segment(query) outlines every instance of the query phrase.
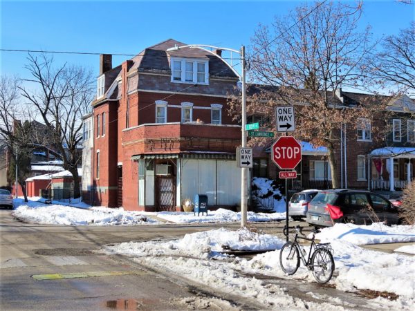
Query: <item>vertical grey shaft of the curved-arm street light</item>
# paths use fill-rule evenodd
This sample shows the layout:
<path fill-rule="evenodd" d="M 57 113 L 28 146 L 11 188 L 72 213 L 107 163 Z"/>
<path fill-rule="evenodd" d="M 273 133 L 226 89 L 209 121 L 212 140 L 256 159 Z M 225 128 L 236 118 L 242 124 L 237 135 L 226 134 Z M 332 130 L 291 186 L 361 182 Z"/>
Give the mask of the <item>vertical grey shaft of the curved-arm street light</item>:
<path fill-rule="evenodd" d="M 245 46 L 241 46 L 242 62 L 242 148 L 246 148 L 246 64 L 245 64 Z M 248 214 L 248 168 L 241 168 L 241 227 L 246 227 L 246 216 Z"/>

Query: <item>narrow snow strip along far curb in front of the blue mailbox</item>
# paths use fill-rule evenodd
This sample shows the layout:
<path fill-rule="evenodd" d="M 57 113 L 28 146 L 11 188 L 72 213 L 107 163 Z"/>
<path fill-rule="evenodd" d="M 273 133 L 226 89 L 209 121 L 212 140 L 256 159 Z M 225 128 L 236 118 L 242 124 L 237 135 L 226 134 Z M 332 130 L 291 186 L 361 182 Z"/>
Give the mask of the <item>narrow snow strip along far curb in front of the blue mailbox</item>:
<path fill-rule="evenodd" d="M 157 217 L 171 221 L 172 223 L 234 223 L 241 221 L 241 212 L 237 213 L 229 209 L 217 209 L 216 211 L 208 211 L 208 215 L 200 214 L 200 216 L 197 216 L 193 212 L 177 213 L 160 211 Z M 285 213 L 266 214 L 248 211 L 247 219 L 249 222 L 284 220 Z"/>

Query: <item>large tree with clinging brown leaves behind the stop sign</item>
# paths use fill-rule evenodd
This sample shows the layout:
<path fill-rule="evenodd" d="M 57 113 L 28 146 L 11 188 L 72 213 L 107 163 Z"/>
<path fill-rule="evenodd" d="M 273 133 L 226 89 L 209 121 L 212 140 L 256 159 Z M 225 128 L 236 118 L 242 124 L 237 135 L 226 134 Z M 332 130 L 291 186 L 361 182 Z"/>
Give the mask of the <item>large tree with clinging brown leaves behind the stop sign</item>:
<path fill-rule="evenodd" d="M 296 104 L 295 135 L 328 149 L 333 187 L 339 187 L 335 152 L 341 125 L 371 118 L 371 103 L 344 109 L 338 96 L 342 87 L 366 83 L 365 55 L 373 44 L 369 28 L 358 32 L 360 10 L 361 3 L 356 8 L 326 1 L 298 6 L 271 26 L 261 26 L 248 54 L 252 81 L 270 86 L 249 99 L 248 113 L 274 115 L 275 106 Z"/>

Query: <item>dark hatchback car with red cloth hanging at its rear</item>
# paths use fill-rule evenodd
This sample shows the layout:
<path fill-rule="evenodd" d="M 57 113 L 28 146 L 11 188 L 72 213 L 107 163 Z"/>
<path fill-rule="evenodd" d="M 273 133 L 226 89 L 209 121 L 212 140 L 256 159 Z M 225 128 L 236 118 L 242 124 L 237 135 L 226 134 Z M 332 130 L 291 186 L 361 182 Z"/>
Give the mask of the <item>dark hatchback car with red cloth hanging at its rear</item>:
<path fill-rule="evenodd" d="M 333 189 L 320 191 L 308 204 L 306 222 L 320 227 L 335 223 L 400 223 L 398 209 L 383 196 L 370 191 Z"/>

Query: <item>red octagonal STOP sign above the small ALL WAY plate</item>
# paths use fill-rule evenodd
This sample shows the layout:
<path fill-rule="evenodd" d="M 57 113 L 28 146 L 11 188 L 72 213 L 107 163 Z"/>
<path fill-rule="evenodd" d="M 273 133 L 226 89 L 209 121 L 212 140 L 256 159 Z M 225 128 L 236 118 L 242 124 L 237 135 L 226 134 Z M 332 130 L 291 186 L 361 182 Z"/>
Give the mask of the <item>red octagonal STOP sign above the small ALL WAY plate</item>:
<path fill-rule="evenodd" d="M 280 169 L 295 169 L 301 161 L 301 144 L 291 136 L 282 136 L 273 144 L 273 161 Z"/>

